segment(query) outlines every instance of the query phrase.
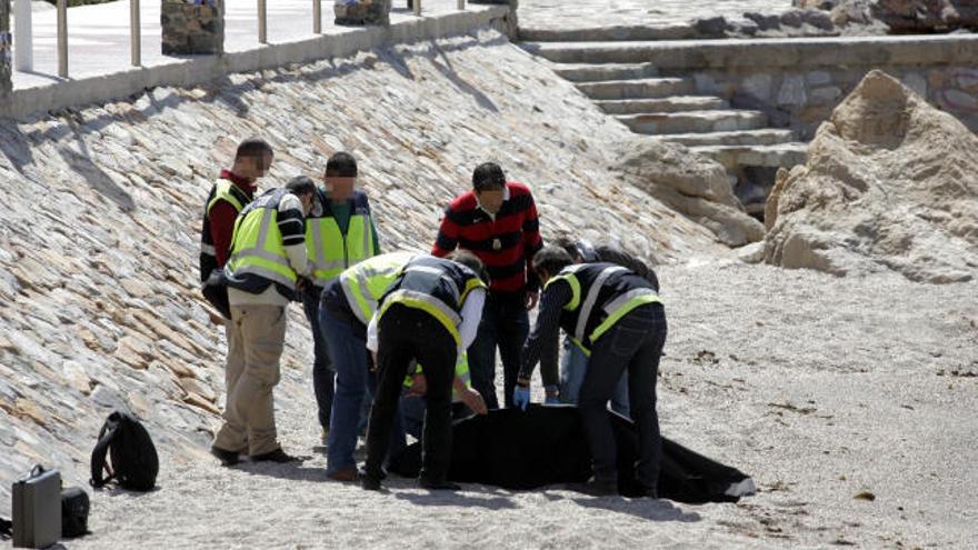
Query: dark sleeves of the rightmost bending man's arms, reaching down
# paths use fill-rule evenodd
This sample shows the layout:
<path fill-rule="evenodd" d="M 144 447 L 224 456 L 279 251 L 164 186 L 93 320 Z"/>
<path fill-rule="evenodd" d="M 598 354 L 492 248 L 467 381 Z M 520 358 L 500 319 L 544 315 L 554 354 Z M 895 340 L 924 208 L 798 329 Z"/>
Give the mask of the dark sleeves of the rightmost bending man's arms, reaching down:
<path fill-rule="evenodd" d="M 523 344 L 523 362 L 520 368 L 519 379 L 529 383 L 530 377 L 537 362 L 542 358 L 543 383 L 551 386 L 557 383 L 557 348 L 560 339 L 560 312 L 563 306 L 570 302 L 573 292 L 570 284 L 565 281 L 553 281 L 543 291 L 543 298 L 540 300 L 540 313 L 537 316 L 537 322 L 530 332 L 527 342 Z"/>

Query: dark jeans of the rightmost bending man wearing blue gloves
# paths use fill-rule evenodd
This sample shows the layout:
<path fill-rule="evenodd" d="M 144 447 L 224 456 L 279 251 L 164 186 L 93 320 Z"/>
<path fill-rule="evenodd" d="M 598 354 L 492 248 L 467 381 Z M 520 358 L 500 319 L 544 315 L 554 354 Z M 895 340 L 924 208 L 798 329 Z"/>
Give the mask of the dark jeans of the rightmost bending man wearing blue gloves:
<path fill-rule="evenodd" d="M 651 496 L 658 488 L 662 457 L 656 413 L 656 374 L 665 343 L 666 313 L 662 306 L 652 303 L 631 310 L 593 343 L 578 403 L 595 478 L 615 480 L 617 452 L 607 407 L 621 374 L 628 372 L 628 399 L 638 433 L 636 478 Z"/>

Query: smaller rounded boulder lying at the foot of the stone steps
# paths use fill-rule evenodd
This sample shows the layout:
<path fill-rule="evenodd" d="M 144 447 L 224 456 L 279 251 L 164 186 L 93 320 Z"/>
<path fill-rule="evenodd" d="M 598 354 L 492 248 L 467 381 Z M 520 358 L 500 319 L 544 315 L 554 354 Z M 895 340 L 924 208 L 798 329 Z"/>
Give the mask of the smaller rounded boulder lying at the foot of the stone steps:
<path fill-rule="evenodd" d="M 722 166 L 683 146 L 637 138 L 622 144 L 619 170 L 628 181 L 697 223 L 723 244 L 764 239 L 764 227 L 734 196 Z"/>

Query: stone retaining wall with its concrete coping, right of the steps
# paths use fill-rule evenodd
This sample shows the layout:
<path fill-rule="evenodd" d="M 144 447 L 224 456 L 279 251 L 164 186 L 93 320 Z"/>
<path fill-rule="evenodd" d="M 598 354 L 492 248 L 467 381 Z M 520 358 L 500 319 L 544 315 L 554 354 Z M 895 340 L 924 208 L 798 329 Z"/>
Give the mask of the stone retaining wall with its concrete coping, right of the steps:
<path fill-rule="evenodd" d="M 662 74 L 691 73 L 697 92 L 765 111 L 772 126 L 792 128 L 809 140 L 862 77 L 880 69 L 978 132 L 978 40 L 849 41 L 849 47 L 838 40 L 800 49 L 790 43 L 738 46 L 725 56 L 727 64 L 705 56 L 692 67 Z"/>

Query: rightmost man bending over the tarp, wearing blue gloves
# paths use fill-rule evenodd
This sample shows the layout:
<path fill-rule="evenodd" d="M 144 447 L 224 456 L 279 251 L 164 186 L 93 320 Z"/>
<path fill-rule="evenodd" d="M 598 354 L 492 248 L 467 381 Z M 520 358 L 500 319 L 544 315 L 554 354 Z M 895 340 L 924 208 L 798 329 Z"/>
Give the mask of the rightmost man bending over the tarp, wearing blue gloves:
<path fill-rule="evenodd" d="M 580 389 L 579 408 L 593 477 L 586 491 L 618 493 L 617 453 L 608 401 L 623 372 L 628 373 L 631 418 L 639 438 L 636 478 L 646 494 L 656 497 L 662 442 L 656 413 L 656 373 L 666 342 L 666 314 L 652 284 L 613 263 L 572 263 L 560 247 L 545 247 L 533 257 L 533 269 L 545 282 L 537 323 L 523 347 L 523 362 L 513 403 L 526 409 L 530 377 L 538 361 L 557 363 L 562 328 L 588 350 L 590 361 Z"/>

